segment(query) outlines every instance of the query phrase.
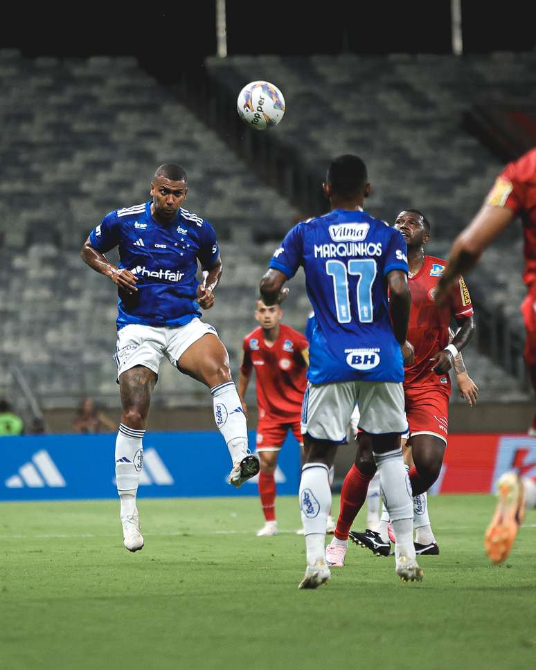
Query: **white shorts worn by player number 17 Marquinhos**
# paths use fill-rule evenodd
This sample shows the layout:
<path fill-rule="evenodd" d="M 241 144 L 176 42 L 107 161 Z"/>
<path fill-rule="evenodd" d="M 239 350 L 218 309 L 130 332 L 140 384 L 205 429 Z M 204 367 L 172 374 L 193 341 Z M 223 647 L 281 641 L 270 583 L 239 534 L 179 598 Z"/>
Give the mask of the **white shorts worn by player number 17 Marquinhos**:
<path fill-rule="evenodd" d="M 343 444 L 356 403 L 362 431 L 382 435 L 409 430 L 402 383 L 339 381 L 307 386 L 301 413 L 302 434 Z"/>

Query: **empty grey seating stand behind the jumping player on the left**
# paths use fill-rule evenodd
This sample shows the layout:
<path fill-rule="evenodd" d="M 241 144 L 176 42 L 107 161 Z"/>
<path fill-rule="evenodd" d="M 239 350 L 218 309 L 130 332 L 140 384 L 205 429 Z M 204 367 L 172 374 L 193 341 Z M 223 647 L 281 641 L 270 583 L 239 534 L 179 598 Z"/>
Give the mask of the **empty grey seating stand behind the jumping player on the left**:
<path fill-rule="evenodd" d="M 20 365 L 44 406 L 75 406 L 84 395 L 118 403 L 116 290 L 78 251 L 107 212 L 147 199 L 154 169 L 174 160 L 188 172 L 188 206 L 213 223 L 222 242 L 224 282 L 207 318 L 236 370 L 273 251 L 259 250 L 251 231 L 274 220 L 287 228 L 292 206 L 134 58 L 29 60 L 1 51 L 0 83 L 4 363 Z M 303 314 L 299 326 L 307 308 Z M 205 395 L 199 383 L 162 366 L 157 401 Z"/>

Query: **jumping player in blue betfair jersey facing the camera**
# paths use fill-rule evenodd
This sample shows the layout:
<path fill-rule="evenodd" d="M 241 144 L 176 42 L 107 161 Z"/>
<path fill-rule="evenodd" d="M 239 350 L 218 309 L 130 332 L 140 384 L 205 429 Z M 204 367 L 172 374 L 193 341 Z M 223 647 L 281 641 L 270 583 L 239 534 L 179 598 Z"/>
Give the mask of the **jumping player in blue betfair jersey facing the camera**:
<path fill-rule="evenodd" d="M 163 356 L 206 384 L 213 396 L 217 428 L 229 448 L 229 483 L 239 487 L 259 471 L 249 453 L 246 417 L 231 379 L 229 355 L 215 329 L 200 320 L 215 302 L 222 275 L 215 232 L 182 207 L 188 194 L 180 165 L 161 165 L 148 202 L 114 210 L 82 246 L 82 259 L 118 287 L 115 360 L 123 413 L 116 439 L 116 480 L 123 544 L 143 547 L 136 492 L 143 467 L 143 435 L 151 393 Z M 116 267 L 105 253 L 118 246 Z M 203 281 L 197 281 L 197 262 Z"/>

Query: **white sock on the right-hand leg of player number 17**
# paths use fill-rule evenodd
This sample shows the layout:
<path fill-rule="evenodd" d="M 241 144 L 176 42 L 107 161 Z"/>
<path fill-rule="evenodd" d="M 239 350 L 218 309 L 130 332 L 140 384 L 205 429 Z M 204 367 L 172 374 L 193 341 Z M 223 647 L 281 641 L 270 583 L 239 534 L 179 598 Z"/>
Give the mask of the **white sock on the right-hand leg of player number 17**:
<path fill-rule="evenodd" d="M 386 453 L 373 452 L 373 456 L 382 484 L 384 505 L 391 518 L 396 536 L 395 555 L 404 554 L 410 560 L 414 560 L 413 497 L 409 476 L 404 468 L 402 449 Z"/>

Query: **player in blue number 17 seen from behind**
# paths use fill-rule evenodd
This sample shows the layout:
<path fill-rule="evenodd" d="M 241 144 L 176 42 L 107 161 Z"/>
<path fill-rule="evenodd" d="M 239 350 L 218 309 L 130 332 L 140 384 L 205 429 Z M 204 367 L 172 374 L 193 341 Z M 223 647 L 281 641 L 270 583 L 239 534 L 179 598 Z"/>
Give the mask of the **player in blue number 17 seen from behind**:
<path fill-rule="evenodd" d="M 406 341 L 411 309 L 406 242 L 397 230 L 363 211 L 370 183 L 357 156 L 334 159 L 323 189 L 331 211 L 294 226 L 260 282 L 262 300 L 274 305 L 287 296 L 283 284 L 303 266 L 316 319 L 302 411 L 300 507 L 307 568 L 300 588 L 316 588 L 330 579 L 325 561 L 328 470 L 337 445 L 346 442 L 356 403 L 361 440 L 370 443 L 395 527 L 396 572 L 404 581 L 420 580 L 413 500 L 400 447 L 400 435 L 408 428 L 404 361 L 413 359 Z"/>

